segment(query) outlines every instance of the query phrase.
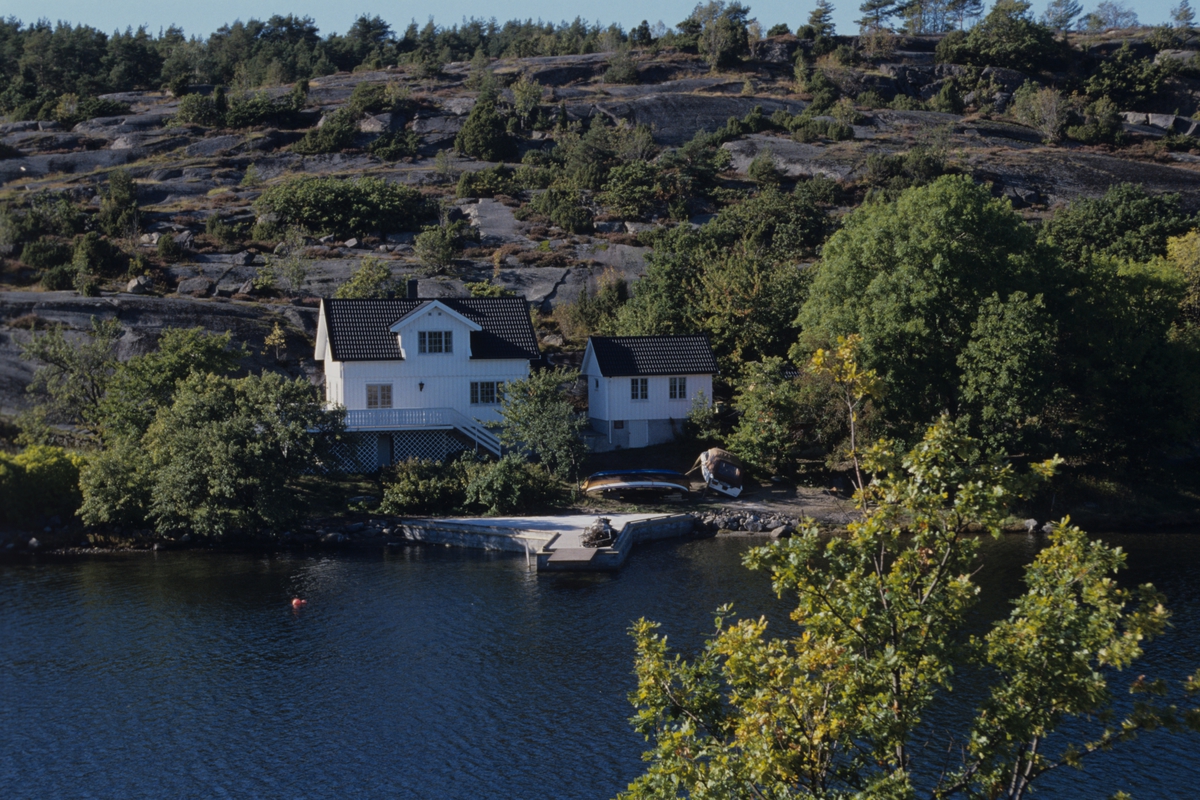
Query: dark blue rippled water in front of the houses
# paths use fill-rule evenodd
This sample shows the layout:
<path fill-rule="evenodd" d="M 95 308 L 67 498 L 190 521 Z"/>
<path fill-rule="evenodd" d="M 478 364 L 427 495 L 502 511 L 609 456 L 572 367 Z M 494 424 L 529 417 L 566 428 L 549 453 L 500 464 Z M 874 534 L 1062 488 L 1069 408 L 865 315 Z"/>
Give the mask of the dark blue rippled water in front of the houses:
<path fill-rule="evenodd" d="M 1200 666 L 1200 535 L 1109 537 L 1175 630 L 1139 668 Z M 638 548 L 551 577 L 446 548 L 160 553 L 0 565 L 0 798 L 606 798 L 637 776 L 630 620 L 694 646 L 712 612 L 785 622 L 742 541 Z M 1000 613 L 1034 542 L 989 542 Z M 308 599 L 294 613 L 288 601 Z M 962 688 L 962 699 L 970 687 Z M 966 703 L 930 721 L 950 724 Z M 1196 796 L 1195 740 L 1105 753 L 1042 796 Z"/>

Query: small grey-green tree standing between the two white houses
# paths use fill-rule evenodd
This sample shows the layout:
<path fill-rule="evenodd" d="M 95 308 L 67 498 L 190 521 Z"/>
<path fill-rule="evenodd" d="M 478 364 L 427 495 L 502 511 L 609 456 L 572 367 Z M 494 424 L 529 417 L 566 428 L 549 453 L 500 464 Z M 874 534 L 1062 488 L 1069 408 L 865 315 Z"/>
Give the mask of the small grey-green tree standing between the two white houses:
<path fill-rule="evenodd" d="M 565 367 L 539 369 L 524 380 L 505 384 L 500 398 L 500 444 L 532 452 L 551 475 L 564 481 L 578 476 L 587 453 L 580 437 L 587 419 L 563 392 L 578 377 Z"/>

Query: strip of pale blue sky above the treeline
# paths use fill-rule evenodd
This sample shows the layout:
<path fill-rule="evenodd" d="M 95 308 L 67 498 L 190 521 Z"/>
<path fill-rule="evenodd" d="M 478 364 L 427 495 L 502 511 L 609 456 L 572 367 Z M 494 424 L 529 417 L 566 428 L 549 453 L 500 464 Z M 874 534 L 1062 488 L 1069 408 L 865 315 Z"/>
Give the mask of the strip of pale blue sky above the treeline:
<path fill-rule="evenodd" d="M 743 0 L 745 1 L 745 0 Z M 858 16 L 860 0 L 842 2 L 833 0 L 838 32 L 853 32 L 853 19 Z M 1049 0 L 1034 0 L 1037 13 L 1045 8 Z M 1082 0 L 1085 11 L 1096 7 L 1098 0 Z M 1144 24 L 1164 23 L 1170 17 L 1170 8 L 1178 0 L 1127 0 L 1126 5 L 1136 10 Z M 650 24 L 662 20 L 673 25 L 685 18 L 695 7 L 695 0 L 667 0 L 665 2 L 637 2 L 635 0 L 610 0 L 608 2 L 563 2 L 562 0 L 440 0 L 437 4 L 415 2 L 322 2 L 319 0 L 206 0 L 204 2 L 145 2 L 145 0 L 40 0 L 36 4 L 6 4 L 0 8 L 5 17 L 17 17 L 24 22 L 34 22 L 40 17 L 52 20 L 85 23 L 106 31 L 146 25 L 151 31 L 174 23 L 188 34 L 206 36 L 224 23 L 235 19 L 265 19 L 271 14 L 294 13 L 308 16 L 317 20 L 322 34 L 346 32 L 360 13 L 379 14 L 394 29 L 403 30 L 410 19 L 425 24 L 433 16 L 439 25 L 451 25 L 463 17 L 496 17 L 497 19 L 533 18 L 559 22 L 583 17 L 589 22 L 605 24 L 620 23 L 626 30 L 642 19 Z M 764 26 L 785 22 L 793 29 L 808 18 L 815 5 L 814 0 L 785 2 L 784 0 L 758 1 L 749 4 L 751 16 Z M 990 4 L 989 4 L 990 5 Z M 1200 2 L 1193 2 L 1200 11 Z"/>

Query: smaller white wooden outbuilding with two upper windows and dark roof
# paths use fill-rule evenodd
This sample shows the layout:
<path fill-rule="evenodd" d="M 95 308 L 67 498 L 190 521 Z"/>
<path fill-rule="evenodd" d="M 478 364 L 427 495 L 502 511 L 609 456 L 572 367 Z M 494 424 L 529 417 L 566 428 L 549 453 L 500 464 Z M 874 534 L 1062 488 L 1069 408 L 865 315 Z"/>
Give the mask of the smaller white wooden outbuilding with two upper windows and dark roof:
<path fill-rule="evenodd" d="M 707 336 L 593 336 L 581 369 L 598 449 L 670 441 L 703 392 L 713 402 L 716 359 Z"/>

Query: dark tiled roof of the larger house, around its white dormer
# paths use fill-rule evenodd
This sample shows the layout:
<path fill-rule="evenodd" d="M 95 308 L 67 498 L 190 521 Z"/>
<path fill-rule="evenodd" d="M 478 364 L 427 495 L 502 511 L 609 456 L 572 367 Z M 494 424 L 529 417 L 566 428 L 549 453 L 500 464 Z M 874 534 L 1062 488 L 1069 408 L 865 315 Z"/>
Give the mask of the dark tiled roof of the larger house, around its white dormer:
<path fill-rule="evenodd" d="M 336 361 L 397 361 L 390 329 L 401 317 L 437 300 L 482 326 L 470 333 L 472 359 L 538 359 L 538 337 L 524 297 L 421 297 L 419 300 L 322 300 L 329 347 Z"/>

